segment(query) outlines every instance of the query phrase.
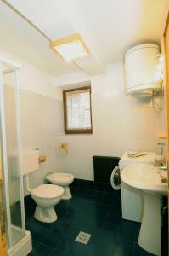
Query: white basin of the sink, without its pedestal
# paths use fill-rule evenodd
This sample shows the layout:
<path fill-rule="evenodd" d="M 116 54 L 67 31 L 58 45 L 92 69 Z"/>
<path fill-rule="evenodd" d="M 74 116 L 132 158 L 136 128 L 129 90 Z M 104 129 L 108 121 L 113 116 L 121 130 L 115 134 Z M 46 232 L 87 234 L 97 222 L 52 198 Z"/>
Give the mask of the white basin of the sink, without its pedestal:
<path fill-rule="evenodd" d="M 128 165 L 121 171 L 121 180 L 127 185 L 147 193 L 167 195 L 167 184 L 161 182 L 167 172 L 148 164 Z"/>

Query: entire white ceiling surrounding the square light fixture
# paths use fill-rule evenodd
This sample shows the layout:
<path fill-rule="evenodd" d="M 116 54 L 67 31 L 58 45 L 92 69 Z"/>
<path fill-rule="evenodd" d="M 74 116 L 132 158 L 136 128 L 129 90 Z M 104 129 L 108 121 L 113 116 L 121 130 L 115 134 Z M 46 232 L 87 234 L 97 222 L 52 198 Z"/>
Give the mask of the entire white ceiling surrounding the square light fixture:
<path fill-rule="evenodd" d="M 12 5 L 46 37 L 3 2 Z M 125 51 L 135 44 L 160 43 L 167 0 L 3 2 L 0 2 L 0 48 L 20 56 L 46 73 L 61 75 L 76 72 L 76 65 L 83 65 L 84 70 L 91 67 L 92 70 L 92 67 L 98 68 L 98 63 L 99 67 L 105 67 L 112 62 L 121 61 Z M 81 33 L 91 55 L 89 61 L 80 60 L 75 65 L 55 55 L 49 49 L 49 40 L 76 32 Z"/>

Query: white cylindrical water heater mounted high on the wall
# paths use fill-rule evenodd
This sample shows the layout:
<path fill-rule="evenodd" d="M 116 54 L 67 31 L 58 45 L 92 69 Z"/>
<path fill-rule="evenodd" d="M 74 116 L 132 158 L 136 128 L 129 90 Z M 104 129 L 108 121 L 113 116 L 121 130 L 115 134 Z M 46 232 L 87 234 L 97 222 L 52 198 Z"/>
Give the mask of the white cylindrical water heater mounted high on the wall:
<path fill-rule="evenodd" d="M 161 90 L 157 78 L 158 44 L 139 44 L 129 49 L 124 56 L 124 77 L 127 95 L 152 96 Z"/>

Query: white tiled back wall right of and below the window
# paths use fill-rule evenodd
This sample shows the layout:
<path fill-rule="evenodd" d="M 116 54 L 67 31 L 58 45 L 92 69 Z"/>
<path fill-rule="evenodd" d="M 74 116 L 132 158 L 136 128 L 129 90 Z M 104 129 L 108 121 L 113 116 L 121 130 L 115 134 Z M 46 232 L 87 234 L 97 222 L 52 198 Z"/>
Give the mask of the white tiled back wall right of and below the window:
<path fill-rule="evenodd" d="M 163 130 L 164 125 L 163 112 L 155 111 L 149 99 L 125 96 L 121 62 L 108 67 L 104 75 L 91 77 L 91 85 L 93 134 L 63 132 L 56 137 L 58 147 L 61 142 L 69 143 L 68 155 L 58 151 L 56 170 L 89 180 L 93 180 L 93 155 L 121 156 L 125 150 L 157 150 L 155 131 Z"/>

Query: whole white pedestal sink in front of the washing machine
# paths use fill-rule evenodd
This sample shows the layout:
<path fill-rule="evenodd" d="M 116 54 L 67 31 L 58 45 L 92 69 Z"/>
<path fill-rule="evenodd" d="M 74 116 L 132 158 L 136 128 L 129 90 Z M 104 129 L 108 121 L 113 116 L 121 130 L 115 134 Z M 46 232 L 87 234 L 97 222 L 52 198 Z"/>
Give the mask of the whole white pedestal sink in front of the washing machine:
<path fill-rule="evenodd" d="M 167 184 L 161 183 L 166 171 L 147 164 L 128 165 L 121 171 L 121 181 L 143 195 L 143 218 L 138 244 L 144 250 L 161 255 L 161 195 L 167 195 Z"/>

